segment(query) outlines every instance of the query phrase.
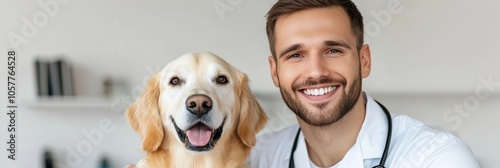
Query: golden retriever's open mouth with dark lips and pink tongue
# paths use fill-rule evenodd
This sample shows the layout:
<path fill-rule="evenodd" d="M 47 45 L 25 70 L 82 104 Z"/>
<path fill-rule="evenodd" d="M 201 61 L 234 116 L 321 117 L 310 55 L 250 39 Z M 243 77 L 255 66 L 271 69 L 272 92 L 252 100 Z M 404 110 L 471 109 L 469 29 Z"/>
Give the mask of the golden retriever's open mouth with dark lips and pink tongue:
<path fill-rule="evenodd" d="M 173 117 L 170 119 L 174 123 L 175 131 L 181 142 L 188 150 L 197 152 L 210 151 L 214 148 L 222 135 L 224 122 L 226 122 L 226 118 L 224 118 L 221 126 L 217 129 L 212 129 L 202 122 L 198 122 L 183 131 L 177 126 Z"/>

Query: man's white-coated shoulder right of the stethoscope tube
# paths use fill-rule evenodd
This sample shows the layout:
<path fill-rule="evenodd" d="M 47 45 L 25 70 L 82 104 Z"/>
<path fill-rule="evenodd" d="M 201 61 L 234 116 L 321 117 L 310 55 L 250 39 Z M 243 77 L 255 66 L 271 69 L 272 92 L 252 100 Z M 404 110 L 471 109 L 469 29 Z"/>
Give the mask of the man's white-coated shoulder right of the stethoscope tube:
<path fill-rule="evenodd" d="M 397 162 L 413 167 L 449 166 L 450 162 L 457 163 L 459 167 L 478 167 L 469 146 L 454 134 L 429 127 L 405 115 L 393 117 L 393 123 L 395 136 L 391 143 L 404 149 L 397 154 L 403 160 Z"/>

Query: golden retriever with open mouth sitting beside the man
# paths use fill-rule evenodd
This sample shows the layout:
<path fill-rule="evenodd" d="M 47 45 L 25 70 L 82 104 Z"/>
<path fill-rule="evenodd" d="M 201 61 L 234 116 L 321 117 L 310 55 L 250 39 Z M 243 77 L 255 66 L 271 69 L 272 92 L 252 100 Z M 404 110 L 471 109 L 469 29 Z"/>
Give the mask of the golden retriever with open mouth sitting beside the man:
<path fill-rule="evenodd" d="M 212 53 L 170 62 L 126 117 L 146 152 L 140 168 L 246 167 L 267 120 L 247 76 Z"/>

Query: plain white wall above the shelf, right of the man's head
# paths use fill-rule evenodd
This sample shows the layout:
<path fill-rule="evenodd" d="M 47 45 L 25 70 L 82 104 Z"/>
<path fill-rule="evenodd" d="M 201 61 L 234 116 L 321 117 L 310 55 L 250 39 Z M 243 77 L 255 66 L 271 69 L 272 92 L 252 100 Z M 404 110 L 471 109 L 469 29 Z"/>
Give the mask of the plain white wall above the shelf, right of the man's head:
<path fill-rule="evenodd" d="M 377 20 L 374 13 L 392 9 L 387 7 L 392 1 L 398 2 L 359 5 L 373 53 L 368 90 L 463 93 L 472 90 L 480 76 L 500 78 L 495 47 L 500 43 L 500 12 L 494 7 L 499 2 L 399 0 L 391 19 Z"/>

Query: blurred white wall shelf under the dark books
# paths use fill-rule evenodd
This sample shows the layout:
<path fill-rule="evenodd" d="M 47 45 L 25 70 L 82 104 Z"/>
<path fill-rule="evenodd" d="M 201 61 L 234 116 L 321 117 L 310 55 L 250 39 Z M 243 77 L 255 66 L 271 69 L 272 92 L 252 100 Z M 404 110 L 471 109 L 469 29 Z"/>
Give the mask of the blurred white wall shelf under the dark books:
<path fill-rule="evenodd" d="M 111 108 L 113 98 L 76 96 L 76 97 L 38 97 L 26 101 L 30 108 Z"/>

